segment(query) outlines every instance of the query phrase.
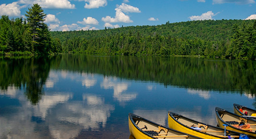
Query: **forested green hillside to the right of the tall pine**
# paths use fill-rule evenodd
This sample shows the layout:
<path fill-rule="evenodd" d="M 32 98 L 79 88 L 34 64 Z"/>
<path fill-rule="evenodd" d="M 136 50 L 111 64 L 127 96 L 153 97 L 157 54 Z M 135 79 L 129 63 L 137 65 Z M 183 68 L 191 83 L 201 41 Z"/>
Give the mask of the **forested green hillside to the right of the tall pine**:
<path fill-rule="evenodd" d="M 254 20 L 198 20 L 159 26 L 54 31 L 63 52 L 256 59 Z"/>

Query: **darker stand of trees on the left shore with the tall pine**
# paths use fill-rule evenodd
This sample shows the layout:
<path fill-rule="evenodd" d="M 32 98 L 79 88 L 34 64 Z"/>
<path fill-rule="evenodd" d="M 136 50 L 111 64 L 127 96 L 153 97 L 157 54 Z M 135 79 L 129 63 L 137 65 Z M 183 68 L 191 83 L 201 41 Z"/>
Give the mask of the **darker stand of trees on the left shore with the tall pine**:
<path fill-rule="evenodd" d="M 0 55 L 31 55 L 57 53 L 56 40 L 52 39 L 43 22 L 46 14 L 34 4 L 27 11 L 27 20 L 8 16 L 0 18 Z"/>

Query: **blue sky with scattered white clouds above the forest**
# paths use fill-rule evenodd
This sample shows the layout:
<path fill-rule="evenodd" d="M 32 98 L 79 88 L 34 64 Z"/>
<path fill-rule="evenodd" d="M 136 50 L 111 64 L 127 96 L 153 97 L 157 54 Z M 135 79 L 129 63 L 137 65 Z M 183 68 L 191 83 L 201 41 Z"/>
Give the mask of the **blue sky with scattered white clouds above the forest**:
<path fill-rule="evenodd" d="M 256 19 L 256 0 L 0 0 L 0 16 L 25 19 L 35 3 L 47 14 L 52 31 Z"/>

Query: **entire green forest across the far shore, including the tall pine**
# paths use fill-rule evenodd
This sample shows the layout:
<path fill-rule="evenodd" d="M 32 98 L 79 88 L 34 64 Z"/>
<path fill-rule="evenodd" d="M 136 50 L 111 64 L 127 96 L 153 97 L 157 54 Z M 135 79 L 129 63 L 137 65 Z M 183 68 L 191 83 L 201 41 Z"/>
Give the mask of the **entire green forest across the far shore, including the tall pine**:
<path fill-rule="evenodd" d="M 89 53 L 256 59 L 256 20 L 197 20 L 104 30 L 50 31 L 38 4 L 0 19 L 0 55 Z M 40 18 L 36 18 L 39 15 Z"/>

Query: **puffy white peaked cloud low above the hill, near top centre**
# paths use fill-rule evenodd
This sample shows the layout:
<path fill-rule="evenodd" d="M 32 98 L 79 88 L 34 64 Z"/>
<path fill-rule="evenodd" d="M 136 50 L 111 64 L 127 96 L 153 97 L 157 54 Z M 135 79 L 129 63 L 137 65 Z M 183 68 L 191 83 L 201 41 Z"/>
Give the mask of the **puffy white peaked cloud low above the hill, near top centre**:
<path fill-rule="evenodd" d="M 110 16 L 106 16 L 105 18 L 103 17 L 101 20 L 104 22 L 125 22 L 125 23 L 131 23 L 133 22 L 130 20 L 130 17 L 128 15 L 125 15 L 120 9 L 116 8 L 116 16 L 115 18 L 111 18 Z"/>

